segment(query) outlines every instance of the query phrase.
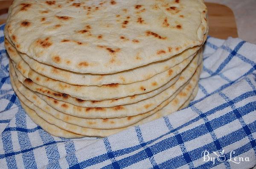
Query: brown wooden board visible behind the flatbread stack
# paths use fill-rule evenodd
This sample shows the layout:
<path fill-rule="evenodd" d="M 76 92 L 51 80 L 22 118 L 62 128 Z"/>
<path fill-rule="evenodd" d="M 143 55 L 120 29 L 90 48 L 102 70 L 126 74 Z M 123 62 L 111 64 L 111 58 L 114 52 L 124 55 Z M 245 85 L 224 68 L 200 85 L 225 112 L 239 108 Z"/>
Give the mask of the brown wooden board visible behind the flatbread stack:
<path fill-rule="evenodd" d="M 0 15 L 8 12 L 8 6 L 12 0 L 0 0 Z M 220 39 L 238 37 L 236 20 L 233 11 L 227 6 L 206 3 L 208 8 L 209 35 Z M 6 18 L 0 19 L 0 24 L 5 23 Z"/>

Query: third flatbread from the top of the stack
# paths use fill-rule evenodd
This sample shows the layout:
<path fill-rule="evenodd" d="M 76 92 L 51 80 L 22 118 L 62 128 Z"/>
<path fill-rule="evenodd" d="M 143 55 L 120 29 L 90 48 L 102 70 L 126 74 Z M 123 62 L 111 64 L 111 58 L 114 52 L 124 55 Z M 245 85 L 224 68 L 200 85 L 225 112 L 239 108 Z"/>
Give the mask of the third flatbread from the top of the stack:
<path fill-rule="evenodd" d="M 192 59 L 192 61 L 191 61 Z M 191 61 L 191 62 L 190 62 Z M 105 99 L 118 99 L 127 96 L 133 96 L 136 94 L 148 93 L 155 90 L 166 83 L 174 84 L 179 78 L 179 73 L 186 68 L 187 65 L 196 68 L 198 66 L 198 54 L 194 58 L 185 59 L 178 65 L 170 68 L 169 70 L 159 73 L 152 78 L 135 82 L 127 85 L 111 84 L 102 86 L 77 86 L 70 85 L 61 81 L 53 80 L 36 73 L 27 65 L 26 68 L 22 65 L 16 65 L 17 70 L 28 79 L 38 85 L 42 85 L 54 91 L 68 94 L 72 97 L 76 97 L 82 100 L 105 100 Z M 177 76 L 178 75 L 178 76 Z"/>

